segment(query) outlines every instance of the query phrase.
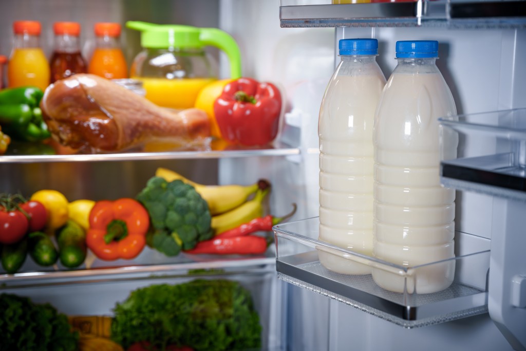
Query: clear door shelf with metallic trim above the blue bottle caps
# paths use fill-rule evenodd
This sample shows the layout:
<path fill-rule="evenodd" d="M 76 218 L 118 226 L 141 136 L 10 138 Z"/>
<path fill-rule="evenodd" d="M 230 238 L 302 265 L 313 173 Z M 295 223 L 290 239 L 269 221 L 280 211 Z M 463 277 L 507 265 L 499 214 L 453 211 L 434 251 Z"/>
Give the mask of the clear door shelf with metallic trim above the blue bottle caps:
<path fill-rule="evenodd" d="M 526 27 L 526 2 L 523 0 L 419 0 L 360 4 L 281 0 L 279 10 L 281 27 Z"/>

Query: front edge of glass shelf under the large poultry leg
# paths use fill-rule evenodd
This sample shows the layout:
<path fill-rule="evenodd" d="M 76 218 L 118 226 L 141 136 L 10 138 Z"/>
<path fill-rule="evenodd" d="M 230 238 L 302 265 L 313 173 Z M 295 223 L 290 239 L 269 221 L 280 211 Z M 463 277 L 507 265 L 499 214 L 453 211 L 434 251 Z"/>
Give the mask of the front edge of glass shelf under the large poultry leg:
<path fill-rule="evenodd" d="M 75 154 L 75 155 L 2 155 L 0 163 L 48 163 L 48 162 L 100 162 L 100 161 L 140 161 L 165 159 L 205 159 L 235 158 L 257 156 L 298 155 L 299 149 L 284 143 L 274 143 L 263 147 L 230 146 L 228 149 L 197 149 L 192 151 L 163 152 L 123 152 L 113 154 Z"/>

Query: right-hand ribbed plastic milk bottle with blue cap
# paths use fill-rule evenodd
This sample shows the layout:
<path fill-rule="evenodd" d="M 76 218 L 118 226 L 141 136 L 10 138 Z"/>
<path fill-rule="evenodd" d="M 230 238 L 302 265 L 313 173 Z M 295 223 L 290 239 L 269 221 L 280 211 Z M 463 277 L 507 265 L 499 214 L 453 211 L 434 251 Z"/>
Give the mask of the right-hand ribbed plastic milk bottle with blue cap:
<path fill-rule="evenodd" d="M 375 117 L 375 257 L 411 268 L 454 257 L 454 189 L 440 185 L 439 117 L 456 118 L 440 73 L 437 41 L 396 43 L 398 65 Z M 443 152 L 452 158 L 457 142 Z M 380 268 L 372 277 L 393 292 L 427 294 L 447 288 L 454 260 L 408 270 Z"/>

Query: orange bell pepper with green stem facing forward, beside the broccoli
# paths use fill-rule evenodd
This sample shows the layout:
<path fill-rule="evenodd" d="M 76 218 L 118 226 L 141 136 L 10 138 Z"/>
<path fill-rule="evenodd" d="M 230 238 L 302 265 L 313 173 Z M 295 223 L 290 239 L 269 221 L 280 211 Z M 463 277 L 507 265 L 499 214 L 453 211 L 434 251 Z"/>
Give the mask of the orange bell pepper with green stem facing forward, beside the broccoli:
<path fill-rule="evenodd" d="M 148 212 L 138 201 L 102 200 L 89 213 L 86 244 L 100 259 L 135 258 L 146 245 L 149 225 Z"/>

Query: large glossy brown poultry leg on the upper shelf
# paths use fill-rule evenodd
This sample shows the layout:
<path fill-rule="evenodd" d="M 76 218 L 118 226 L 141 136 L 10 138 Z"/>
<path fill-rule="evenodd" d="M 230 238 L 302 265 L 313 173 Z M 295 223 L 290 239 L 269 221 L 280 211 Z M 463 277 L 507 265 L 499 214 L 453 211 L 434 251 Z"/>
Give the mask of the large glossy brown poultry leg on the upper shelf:
<path fill-rule="evenodd" d="M 204 111 L 159 107 L 90 74 L 76 74 L 50 85 L 41 108 L 53 138 L 83 152 L 124 151 L 158 139 L 195 144 L 210 136 Z"/>

